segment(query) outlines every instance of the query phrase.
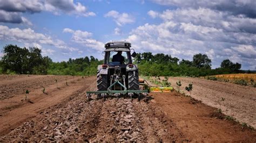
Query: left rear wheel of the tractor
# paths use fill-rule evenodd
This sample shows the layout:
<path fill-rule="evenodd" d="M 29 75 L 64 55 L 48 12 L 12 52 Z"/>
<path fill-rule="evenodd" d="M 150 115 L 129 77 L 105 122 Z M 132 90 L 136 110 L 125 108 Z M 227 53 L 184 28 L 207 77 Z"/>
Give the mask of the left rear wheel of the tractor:
<path fill-rule="evenodd" d="M 98 91 L 107 90 L 107 75 L 100 75 L 99 70 L 97 71 L 97 88 Z"/>

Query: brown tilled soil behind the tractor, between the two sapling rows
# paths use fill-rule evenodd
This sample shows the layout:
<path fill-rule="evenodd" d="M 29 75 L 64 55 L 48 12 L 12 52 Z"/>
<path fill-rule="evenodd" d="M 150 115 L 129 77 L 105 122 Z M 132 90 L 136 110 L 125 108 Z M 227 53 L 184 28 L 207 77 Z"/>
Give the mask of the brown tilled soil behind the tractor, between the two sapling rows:
<path fill-rule="evenodd" d="M 151 93 L 151 101 L 88 101 L 86 91 L 96 89 L 96 77 L 59 85 L 46 86 L 47 95 L 31 90 L 32 103 L 21 102 L 21 95 L 2 100 L 0 141 L 256 141 L 255 131 L 176 92 Z M 12 102 L 16 106 L 7 108 Z"/>

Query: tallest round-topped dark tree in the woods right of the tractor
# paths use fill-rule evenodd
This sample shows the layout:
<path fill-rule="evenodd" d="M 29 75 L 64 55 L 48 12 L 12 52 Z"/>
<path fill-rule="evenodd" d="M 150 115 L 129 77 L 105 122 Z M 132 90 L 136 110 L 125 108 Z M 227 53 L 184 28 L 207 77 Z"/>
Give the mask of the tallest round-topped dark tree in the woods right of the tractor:
<path fill-rule="evenodd" d="M 193 56 L 193 65 L 197 68 L 210 69 L 212 66 L 211 62 L 211 59 L 206 54 L 200 53 Z"/>

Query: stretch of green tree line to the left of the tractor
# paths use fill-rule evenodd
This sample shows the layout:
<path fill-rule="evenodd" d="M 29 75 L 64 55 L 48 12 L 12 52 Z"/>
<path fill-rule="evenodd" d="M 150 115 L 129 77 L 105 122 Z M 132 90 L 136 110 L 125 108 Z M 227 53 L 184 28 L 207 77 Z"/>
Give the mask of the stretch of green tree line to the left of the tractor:
<path fill-rule="evenodd" d="M 0 74 L 95 75 L 97 66 L 103 63 L 93 56 L 53 62 L 48 56 L 42 56 L 37 47 L 6 45 L 3 53 Z"/>

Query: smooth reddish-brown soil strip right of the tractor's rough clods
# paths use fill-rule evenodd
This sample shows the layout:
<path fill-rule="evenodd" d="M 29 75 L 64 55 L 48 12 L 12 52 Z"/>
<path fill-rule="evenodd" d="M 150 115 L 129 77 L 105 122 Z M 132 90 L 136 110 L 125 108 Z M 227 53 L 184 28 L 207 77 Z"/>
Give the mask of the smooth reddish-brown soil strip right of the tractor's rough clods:
<path fill-rule="evenodd" d="M 255 131 L 225 119 L 217 109 L 190 97 L 180 96 L 176 92 L 154 93 L 152 96 L 167 117 L 185 135 L 187 141 L 254 142 L 256 140 Z"/>

